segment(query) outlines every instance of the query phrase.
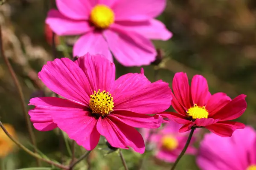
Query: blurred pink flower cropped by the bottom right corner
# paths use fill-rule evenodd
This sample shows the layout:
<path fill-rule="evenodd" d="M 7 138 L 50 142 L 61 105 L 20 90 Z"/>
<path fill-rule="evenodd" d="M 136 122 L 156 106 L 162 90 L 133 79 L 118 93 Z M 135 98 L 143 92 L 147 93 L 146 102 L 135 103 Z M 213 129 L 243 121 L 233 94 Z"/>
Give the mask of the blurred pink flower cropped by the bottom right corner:
<path fill-rule="evenodd" d="M 256 170 L 256 131 L 247 126 L 230 138 L 206 134 L 196 162 L 201 170 Z"/>

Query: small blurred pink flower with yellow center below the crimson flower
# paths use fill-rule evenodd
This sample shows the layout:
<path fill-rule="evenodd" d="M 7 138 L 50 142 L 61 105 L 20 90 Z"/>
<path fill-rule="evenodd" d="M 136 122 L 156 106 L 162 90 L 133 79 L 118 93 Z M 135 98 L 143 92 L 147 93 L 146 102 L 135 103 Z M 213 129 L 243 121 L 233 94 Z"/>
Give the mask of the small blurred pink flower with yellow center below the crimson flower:
<path fill-rule="evenodd" d="M 175 162 L 189 136 L 188 132 L 179 133 L 181 126 L 174 121 L 170 121 L 165 123 L 162 129 L 154 131 L 149 139 L 149 144 L 154 148 L 154 154 L 157 159 L 166 162 Z M 141 129 L 141 134 L 145 140 L 148 139 L 149 130 L 146 128 Z M 191 143 L 186 150 L 187 154 L 196 153 L 196 149 L 192 146 L 193 142 L 195 142 L 195 137 L 191 139 Z"/>

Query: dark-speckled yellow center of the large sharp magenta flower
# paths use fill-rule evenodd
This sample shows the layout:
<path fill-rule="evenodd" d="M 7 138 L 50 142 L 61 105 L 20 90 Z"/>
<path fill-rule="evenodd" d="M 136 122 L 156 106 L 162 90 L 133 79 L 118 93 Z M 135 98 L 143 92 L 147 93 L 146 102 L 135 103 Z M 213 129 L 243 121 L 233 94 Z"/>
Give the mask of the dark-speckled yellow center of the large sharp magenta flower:
<path fill-rule="evenodd" d="M 105 116 L 113 111 L 114 102 L 113 97 L 106 91 L 98 92 L 94 91 L 94 94 L 90 95 L 89 107 L 93 113 L 101 114 Z"/>

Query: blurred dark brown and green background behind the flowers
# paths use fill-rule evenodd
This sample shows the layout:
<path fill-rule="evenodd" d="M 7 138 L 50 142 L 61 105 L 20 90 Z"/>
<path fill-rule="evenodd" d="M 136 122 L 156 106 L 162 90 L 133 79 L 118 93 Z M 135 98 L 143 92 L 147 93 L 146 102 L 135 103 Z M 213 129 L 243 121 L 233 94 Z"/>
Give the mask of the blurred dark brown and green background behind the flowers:
<path fill-rule="evenodd" d="M 3 26 L 3 47 L 20 80 L 26 102 L 32 96 L 50 91 L 37 77 L 38 71 L 52 60 L 52 47 L 47 43 L 44 20 L 50 6 L 49 0 L 9 0 L 0 6 L 0 24 Z M 211 93 L 224 92 L 231 98 L 247 95 L 248 108 L 239 121 L 256 126 L 256 1 L 255 0 L 168 0 L 166 10 L 158 17 L 173 32 L 169 41 L 154 41 L 164 51 L 159 65 L 158 79 L 169 82 L 176 72 L 186 72 L 191 79 L 195 74 L 207 78 Z M 71 54 L 73 38 L 61 38 L 58 57 Z M 64 50 L 64 51 L 63 51 Z M 140 68 L 125 68 L 116 62 L 117 77 Z M 145 66 L 145 75 L 154 81 L 154 66 Z M 28 107 L 29 108 L 29 107 Z M 15 127 L 18 139 L 32 149 L 26 130 L 17 90 L 9 71 L 0 58 L 0 117 L 1 121 Z M 58 130 L 35 131 L 38 148 L 52 159 L 70 161 L 64 148 L 60 152 Z M 69 141 L 70 142 L 70 141 Z M 76 146 L 76 156 L 85 151 Z M 81 170 L 122 170 L 117 153 L 104 156 L 108 151 L 102 140 L 99 147 L 78 166 Z M 136 170 L 140 154 L 124 150 L 129 169 Z M 193 156 L 184 156 L 177 170 L 197 170 Z M 35 167 L 35 159 L 22 150 L 4 158 L 8 170 Z M 169 170 L 171 164 L 148 154 L 144 170 Z M 49 166 L 44 164 L 44 166 Z M 78 169 L 79 169 L 78 168 Z"/>

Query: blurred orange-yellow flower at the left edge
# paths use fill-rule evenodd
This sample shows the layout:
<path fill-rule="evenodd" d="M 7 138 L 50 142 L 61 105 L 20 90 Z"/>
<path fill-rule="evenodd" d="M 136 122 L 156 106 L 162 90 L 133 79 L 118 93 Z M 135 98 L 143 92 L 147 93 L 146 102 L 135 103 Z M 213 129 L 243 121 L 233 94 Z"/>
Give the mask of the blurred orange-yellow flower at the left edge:
<path fill-rule="evenodd" d="M 15 129 L 10 124 L 3 124 L 6 130 L 15 137 Z M 4 133 L 3 129 L 0 128 L 0 158 L 7 156 L 14 150 L 15 144 L 12 142 L 11 139 Z"/>

